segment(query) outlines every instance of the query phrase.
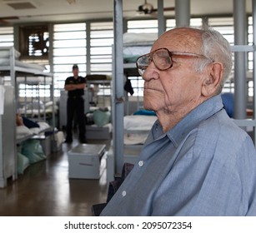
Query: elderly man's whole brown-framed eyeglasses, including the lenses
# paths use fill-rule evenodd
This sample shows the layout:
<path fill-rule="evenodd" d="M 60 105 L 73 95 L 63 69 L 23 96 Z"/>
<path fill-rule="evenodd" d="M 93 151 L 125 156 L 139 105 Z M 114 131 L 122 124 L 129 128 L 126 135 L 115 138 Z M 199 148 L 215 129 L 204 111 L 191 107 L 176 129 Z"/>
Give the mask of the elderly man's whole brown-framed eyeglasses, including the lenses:
<path fill-rule="evenodd" d="M 208 59 L 213 62 L 212 58 L 205 57 L 197 53 L 168 51 L 166 47 L 163 47 L 138 57 L 136 61 L 138 73 L 142 76 L 148 68 L 150 62 L 153 62 L 159 71 L 166 71 L 173 67 L 173 57 L 198 57 Z"/>

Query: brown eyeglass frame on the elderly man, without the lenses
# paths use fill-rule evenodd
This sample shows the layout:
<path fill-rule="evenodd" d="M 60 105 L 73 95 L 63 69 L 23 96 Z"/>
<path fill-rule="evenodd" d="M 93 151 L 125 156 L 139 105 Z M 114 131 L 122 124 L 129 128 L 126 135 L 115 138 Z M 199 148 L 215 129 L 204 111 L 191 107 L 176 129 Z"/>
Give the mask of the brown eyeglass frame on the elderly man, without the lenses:
<path fill-rule="evenodd" d="M 170 58 L 170 64 L 166 68 L 159 68 L 158 65 L 156 64 L 155 60 L 154 60 L 154 55 L 156 54 L 156 52 L 159 52 L 160 50 L 165 50 L 166 52 L 168 52 L 168 55 L 169 55 L 169 58 Z M 154 50 L 153 52 L 149 52 L 149 53 L 144 54 L 144 55 L 137 58 L 136 66 L 137 66 L 137 69 L 138 69 L 138 73 L 141 76 L 143 76 L 143 73 L 146 71 L 146 69 L 148 68 L 148 66 L 150 65 L 151 62 L 153 62 L 153 64 L 155 65 L 155 67 L 158 68 L 159 71 L 166 71 L 169 68 L 173 67 L 173 56 L 174 57 L 198 57 L 198 58 L 208 59 L 210 62 L 214 62 L 214 60 L 212 58 L 206 57 L 202 54 L 193 53 L 193 52 L 169 51 L 168 48 L 161 47 L 161 48 L 158 48 L 158 49 Z M 143 67 L 140 67 L 140 64 L 139 64 L 138 61 L 140 59 L 142 59 L 143 57 L 148 57 L 148 65 L 144 65 Z"/>

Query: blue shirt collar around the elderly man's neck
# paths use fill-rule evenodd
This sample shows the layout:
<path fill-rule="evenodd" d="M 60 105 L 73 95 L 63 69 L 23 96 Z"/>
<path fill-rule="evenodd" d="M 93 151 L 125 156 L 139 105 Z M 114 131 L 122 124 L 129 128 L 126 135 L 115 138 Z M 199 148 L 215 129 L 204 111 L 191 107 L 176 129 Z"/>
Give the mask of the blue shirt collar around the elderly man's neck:
<path fill-rule="evenodd" d="M 198 124 L 209 117 L 213 116 L 216 112 L 223 108 L 223 102 L 220 95 L 212 97 L 207 101 L 194 108 L 192 112 L 189 112 L 186 117 L 178 122 L 173 129 L 169 130 L 166 135 L 174 146 L 178 146 L 183 138 L 188 135 L 189 131 L 198 126 Z"/>

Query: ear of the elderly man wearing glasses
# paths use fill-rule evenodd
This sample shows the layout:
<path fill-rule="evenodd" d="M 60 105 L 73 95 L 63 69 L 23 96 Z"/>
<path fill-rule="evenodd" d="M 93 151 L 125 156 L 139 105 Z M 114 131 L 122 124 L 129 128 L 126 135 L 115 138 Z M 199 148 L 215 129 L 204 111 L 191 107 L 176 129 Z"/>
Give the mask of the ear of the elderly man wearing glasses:
<path fill-rule="evenodd" d="M 202 94 L 205 97 L 212 96 L 218 91 L 220 82 L 223 78 L 223 65 L 213 62 L 208 67 L 208 76 L 203 80 Z"/>

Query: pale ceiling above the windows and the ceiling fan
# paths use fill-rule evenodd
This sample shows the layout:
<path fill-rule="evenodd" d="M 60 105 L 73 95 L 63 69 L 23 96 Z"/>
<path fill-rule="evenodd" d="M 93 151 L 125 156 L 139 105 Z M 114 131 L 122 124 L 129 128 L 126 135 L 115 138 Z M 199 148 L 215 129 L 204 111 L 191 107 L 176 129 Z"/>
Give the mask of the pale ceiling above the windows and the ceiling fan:
<path fill-rule="evenodd" d="M 73 3 L 68 3 L 68 1 L 73 1 Z M 251 12 L 252 0 L 245 1 L 246 11 Z M 113 3 L 114 0 L 0 0 L 0 19 L 7 17 L 0 24 L 111 18 L 113 17 Z M 144 0 L 123 0 L 123 17 L 142 17 L 137 10 L 138 6 L 143 3 Z M 157 8 L 158 0 L 148 0 L 148 3 Z M 163 7 L 174 7 L 174 4 L 175 0 L 163 0 Z M 18 7 L 18 9 L 11 6 Z M 30 8 L 20 8 L 23 6 Z M 192 16 L 233 12 L 233 0 L 190 0 L 190 6 Z M 172 17 L 174 13 L 174 11 L 165 11 L 164 15 Z"/>

